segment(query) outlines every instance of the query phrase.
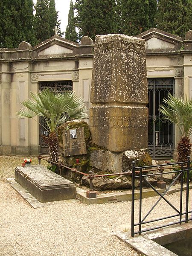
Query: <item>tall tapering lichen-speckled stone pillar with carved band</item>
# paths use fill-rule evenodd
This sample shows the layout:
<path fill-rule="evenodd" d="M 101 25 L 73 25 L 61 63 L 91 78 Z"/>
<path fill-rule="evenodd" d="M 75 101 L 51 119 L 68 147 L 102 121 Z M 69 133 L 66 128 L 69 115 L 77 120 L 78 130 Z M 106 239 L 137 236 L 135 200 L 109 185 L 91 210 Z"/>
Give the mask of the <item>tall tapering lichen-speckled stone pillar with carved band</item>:
<path fill-rule="evenodd" d="M 115 154 L 118 163 L 112 166 L 116 164 L 116 172 L 121 172 L 126 151 L 148 154 L 145 40 L 117 34 L 96 36 L 90 102 L 90 131 L 92 143 L 100 148 L 96 153 L 100 166 L 107 158 L 114 162 Z"/>

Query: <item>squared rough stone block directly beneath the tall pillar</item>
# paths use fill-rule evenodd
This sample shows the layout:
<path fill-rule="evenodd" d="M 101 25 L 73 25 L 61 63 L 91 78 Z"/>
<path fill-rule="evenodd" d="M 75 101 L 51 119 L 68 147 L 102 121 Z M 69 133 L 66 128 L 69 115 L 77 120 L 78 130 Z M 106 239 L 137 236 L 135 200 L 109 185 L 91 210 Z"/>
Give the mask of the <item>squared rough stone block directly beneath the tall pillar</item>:
<path fill-rule="evenodd" d="M 121 172 L 122 155 L 109 150 L 93 150 L 90 153 L 90 166 L 103 172 Z"/>

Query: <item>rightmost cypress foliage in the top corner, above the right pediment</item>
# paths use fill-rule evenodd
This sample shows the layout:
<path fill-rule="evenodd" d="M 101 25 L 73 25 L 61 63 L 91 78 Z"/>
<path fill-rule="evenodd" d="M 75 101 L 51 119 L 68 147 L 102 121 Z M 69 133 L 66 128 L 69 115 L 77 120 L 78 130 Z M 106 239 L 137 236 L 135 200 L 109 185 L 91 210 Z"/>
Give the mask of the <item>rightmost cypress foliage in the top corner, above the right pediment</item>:
<path fill-rule="evenodd" d="M 157 28 L 183 36 L 192 26 L 191 0 L 160 0 L 157 14 Z"/>

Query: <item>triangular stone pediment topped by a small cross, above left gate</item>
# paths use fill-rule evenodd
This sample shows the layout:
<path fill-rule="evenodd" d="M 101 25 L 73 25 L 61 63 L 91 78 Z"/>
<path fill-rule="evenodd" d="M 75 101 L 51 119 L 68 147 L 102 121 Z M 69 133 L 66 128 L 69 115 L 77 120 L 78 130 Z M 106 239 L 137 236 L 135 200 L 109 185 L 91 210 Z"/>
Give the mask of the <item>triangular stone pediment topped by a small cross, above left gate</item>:
<path fill-rule="evenodd" d="M 33 50 L 38 52 L 39 57 L 75 55 L 78 46 L 79 44 L 56 35 L 33 47 Z"/>

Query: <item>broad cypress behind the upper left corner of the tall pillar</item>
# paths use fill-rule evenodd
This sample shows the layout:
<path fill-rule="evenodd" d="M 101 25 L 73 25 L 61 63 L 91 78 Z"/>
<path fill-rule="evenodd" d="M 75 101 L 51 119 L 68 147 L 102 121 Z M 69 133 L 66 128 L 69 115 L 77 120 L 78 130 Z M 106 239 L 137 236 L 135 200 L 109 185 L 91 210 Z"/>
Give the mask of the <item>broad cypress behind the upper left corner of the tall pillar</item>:
<path fill-rule="evenodd" d="M 96 35 L 114 32 L 114 0 L 84 0 L 81 30 L 94 40 Z"/>

